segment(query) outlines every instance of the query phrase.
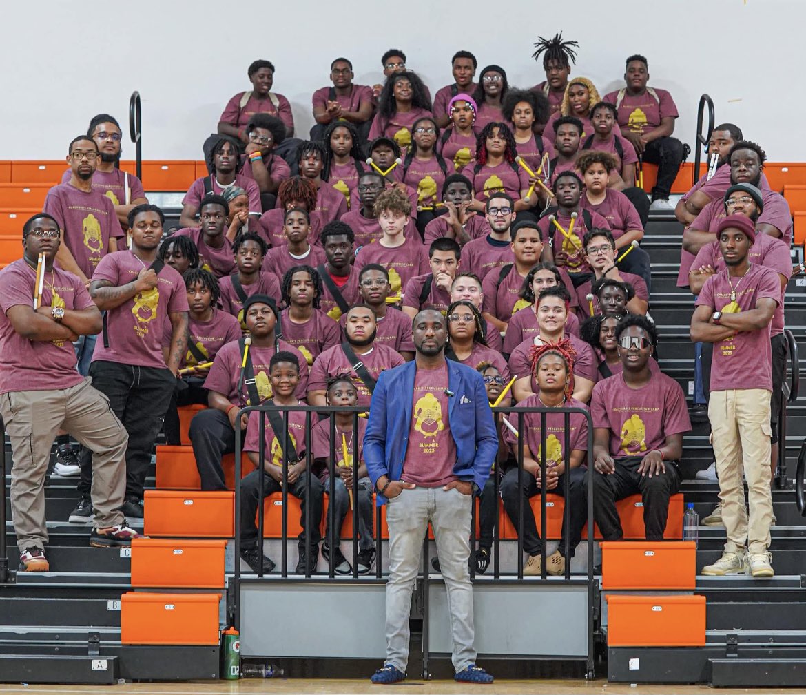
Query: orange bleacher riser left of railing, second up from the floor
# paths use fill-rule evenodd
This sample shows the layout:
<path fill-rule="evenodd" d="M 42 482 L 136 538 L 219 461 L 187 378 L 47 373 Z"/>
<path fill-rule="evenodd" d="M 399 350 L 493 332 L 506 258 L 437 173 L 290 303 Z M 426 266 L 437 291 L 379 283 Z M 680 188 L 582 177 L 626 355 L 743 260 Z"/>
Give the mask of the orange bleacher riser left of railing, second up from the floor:
<path fill-rule="evenodd" d="M 138 538 L 131 542 L 131 585 L 223 589 L 223 540 Z"/>

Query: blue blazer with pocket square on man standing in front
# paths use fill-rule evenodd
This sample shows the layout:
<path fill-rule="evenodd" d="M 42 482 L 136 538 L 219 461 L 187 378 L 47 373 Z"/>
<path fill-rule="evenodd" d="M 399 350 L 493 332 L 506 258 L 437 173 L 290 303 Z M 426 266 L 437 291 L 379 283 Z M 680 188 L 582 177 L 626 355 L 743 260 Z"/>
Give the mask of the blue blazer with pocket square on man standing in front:
<path fill-rule="evenodd" d="M 474 490 L 480 493 L 498 452 L 498 434 L 487 390 L 475 369 L 454 360 L 447 360 L 447 365 L 451 391 L 448 424 L 457 454 L 453 472 L 459 480 L 473 482 Z M 409 445 L 416 370 L 417 364 L 412 361 L 380 372 L 364 433 L 364 461 L 372 485 L 384 475 L 393 481 L 401 479 Z M 384 504 L 386 497 L 378 495 L 377 502 Z"/>

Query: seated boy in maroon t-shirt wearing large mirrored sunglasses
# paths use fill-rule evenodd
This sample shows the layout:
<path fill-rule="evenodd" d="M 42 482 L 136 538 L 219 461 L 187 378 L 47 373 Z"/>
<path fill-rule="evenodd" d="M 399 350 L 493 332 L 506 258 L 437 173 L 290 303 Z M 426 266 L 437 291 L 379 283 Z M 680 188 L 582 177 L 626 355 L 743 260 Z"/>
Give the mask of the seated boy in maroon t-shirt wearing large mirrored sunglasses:
<path fill-rule="evenodd" d="M 680 488 L 683 435 L 692 429 L 686 397 L 677 381 L 650 369 L 657 332 L 649 319 L 623 318 L 616 339 L 621 374 L 597 383 L 591 397 L 593 517 L 605 540 L 621 540 L 616 502 L 641 493 L 646 539 L 659 541 Z"/>

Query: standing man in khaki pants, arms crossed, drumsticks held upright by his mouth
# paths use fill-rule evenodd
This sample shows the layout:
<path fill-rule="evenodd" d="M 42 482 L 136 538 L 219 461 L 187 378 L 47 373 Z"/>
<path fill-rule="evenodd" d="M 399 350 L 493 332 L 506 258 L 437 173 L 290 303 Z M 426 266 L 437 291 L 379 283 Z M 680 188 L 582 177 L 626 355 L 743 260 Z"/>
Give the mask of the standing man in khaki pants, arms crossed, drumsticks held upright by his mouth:
<path fill-rule="evenodd" d="M 27 572 L 49 569 L 44 478 L 60 428 L 98 452 L 93 454 L 95 518 L 89 544 L 122 546 L 137 537 L 118 510 L 126 487 L 128 435 L 109 401 L 76 370 L 73 341 L 101 331 L 101 313 L 77 276 L 53 267 L 59 238 L 56 219 L 35 214 L 23 226 L 23 258 L 0 272 L 0 414 L 14 459 L 11 514 L 20 570 Z M 41 292 L 34 309 L 37 285 Z"/>

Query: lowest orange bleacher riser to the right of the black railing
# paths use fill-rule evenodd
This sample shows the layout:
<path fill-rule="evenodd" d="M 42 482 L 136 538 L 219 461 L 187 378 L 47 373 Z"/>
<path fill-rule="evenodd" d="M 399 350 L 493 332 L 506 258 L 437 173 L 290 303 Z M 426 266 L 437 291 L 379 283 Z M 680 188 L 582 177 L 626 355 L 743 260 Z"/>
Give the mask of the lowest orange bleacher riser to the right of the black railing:
<path fill-rule="evenodd" d="M 704 647 L 704 596 L 609 594 L 609 647 Z"/>

